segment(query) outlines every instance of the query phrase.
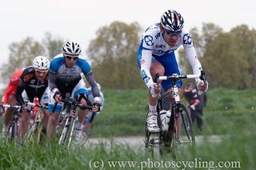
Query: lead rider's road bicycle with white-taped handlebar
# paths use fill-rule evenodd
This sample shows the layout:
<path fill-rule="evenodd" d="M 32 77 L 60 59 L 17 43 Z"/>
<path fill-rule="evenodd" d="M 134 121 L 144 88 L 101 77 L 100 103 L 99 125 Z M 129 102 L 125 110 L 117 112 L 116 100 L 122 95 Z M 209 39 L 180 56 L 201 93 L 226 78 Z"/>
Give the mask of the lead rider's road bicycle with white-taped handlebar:
<path fill-rule="evenodd" d="M 173 153 L 174 158 L 177 156 L 176 148 L 181 144 L 195 144 L 194 132 L 190 113 L 186 109 L 186 106 L 181 103 L 181 99 L 178 94 L 177 82 L 182 79 L 189 78 L 200 78 L 204 81 L 206 85 L 205 72 L 202 70 L 201 75 L 188 74 L 188 75 L 178 75 L 173 74 L 172 76 L 162 76 L 159 77 L 159 74 L 156 74 L 156 82 L 159 85 L 159 81 L 170 80 L 173 83 L 173 87 L 170 91 L 163 93 L 158 98 L 157 113 L 158 113 L 158 126 L 160 132 L 149 132 L 146 123 L 146 139 L 145 145 L 146 148 L 150 148 L 153 156 L 162 156 L 164 150 L 170 150 Z M 171 96 L 173 99 L 171 109 L 163 109 L 162 102 L 166 97 Z M 164 130 L 162 128 L 162 116 L 166 117 L 166 113 L 170 113 L 170 121 L 168 123 L 169 128 Z M 178 130 L 178 117 L 182 118 L 182 128 Z M 181 132 L 179 132 L 181 131 Z M 181 137 L 180 137 L 181 136 Z"/>

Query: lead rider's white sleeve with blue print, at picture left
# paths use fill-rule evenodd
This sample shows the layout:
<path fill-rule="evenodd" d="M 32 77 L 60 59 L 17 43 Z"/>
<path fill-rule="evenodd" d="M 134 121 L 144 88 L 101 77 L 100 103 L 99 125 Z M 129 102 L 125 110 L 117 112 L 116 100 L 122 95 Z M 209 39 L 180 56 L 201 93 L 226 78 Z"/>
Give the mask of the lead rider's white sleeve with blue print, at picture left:
<path fill-rule="evenodd" d="M 154 84 L 154 81 L 150 75 L 151 58 L 151 50 L 142 50 L 141 77 L 148 88 L 150 88 L 150 85 Z"/>

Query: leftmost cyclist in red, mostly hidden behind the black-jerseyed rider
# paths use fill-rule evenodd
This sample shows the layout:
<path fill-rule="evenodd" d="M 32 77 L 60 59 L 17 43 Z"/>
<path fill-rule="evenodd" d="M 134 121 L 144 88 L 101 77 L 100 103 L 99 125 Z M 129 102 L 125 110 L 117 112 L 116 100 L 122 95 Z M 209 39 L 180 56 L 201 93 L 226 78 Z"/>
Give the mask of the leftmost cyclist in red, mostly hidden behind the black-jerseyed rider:
<path fill-rule="evenodd" d="M 2 104 L 6 105 L 16 105 L 17 101 L 15 98 L 15 93 L 18 88 L 18 82 L 19 78 L 21 77 L 24 69 L 18 69 L 12 77 L 10 77 L 9 84 L 6 88 L 6 91 L 2 95 Z M 4 113 L 4 110 L 1 110 L 1 113 Z M 4 114 L 4 123 L 2 126 L 2 134 L 6 134 L 8 127 L 11 124 L 11 118 L 12 118 L 12 109 L 8 108 L 6 109 L 6 113 Z"/>

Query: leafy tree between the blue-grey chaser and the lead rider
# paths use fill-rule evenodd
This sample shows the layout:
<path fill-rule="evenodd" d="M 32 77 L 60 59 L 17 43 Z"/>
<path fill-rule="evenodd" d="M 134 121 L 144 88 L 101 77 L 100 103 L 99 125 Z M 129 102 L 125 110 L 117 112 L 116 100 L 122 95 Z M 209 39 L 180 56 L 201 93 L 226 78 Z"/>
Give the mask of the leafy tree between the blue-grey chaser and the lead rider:
<path fill-rule="evenodd" d="M 102 26 L 97 38 L 90 42 L 87 53 L 96 80 L 108 89 L 135 89 L 143 86 L 137 66 L 137 50 L 141 27 L 113 22 Z"/>

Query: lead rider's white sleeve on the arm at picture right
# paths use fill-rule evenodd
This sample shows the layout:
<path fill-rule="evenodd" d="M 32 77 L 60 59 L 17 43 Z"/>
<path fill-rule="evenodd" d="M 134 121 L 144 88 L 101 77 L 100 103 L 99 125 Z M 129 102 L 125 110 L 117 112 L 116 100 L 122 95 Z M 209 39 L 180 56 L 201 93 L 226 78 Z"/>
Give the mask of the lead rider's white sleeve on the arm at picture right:
<path fill-rule="evenodd" d="M 188 59 L 188 61 L 190 62 L 190 65 L 192 66 L 193 69 L 193 73 L 194 74 L 201 74 L 201 68 L 202 65 L 200 63 L 200 61 L 198 60 L 198 56 L 197 53 L 195 52 L 194 46 L 186 46 L 185 52 L 186 52 L 186 58 Z M 195 81 L 200 81 L 199 78 L 196 78 Z"/>

